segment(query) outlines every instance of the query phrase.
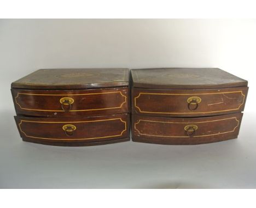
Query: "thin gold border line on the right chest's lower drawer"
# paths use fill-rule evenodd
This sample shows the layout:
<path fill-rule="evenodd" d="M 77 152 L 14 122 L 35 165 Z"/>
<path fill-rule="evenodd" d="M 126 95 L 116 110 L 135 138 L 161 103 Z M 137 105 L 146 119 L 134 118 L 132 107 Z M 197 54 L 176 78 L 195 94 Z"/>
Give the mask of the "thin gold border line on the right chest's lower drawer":
<path fill-rule="evenodd" d="M 155 122 L 155 123 L 167 123 L 167 124 L 199 124 L 199 123 L 216 122 L 216 121 L 229 120 L 229 119 L 235 119 L 237 121 L 237 125 L 234 127 L 234 129 L 232 131 L 227 131 L 227 132 L 222 132 L 222 133 L 213 133 L 213 134 L 207 134 L 207 135 L 200 135 L 200 136 L 193 136 L 193 137 L 208 137 L 208 136 L 214 136 L 214 135 L 218 135 L 218 134 L 234 132 L 235 129 L 239 126 L 240 121 L 237 120 L 236 117 L 226 118 L 226 119 L 218 119 L 218 120 L 212 120 L 212 121 L 197 121 L 197 122 L 152 121 L 152 120 L 139 119 L 139 121 L 134 124 L 134 129 L 137 130 L 140 135 L 146 135 L 146 136 L 154 136 L 154 137 L 189 137 L 189 136 L 161 136 L 161 135 L 153 135 L 153 134 L 141 133 L 136 128 L 136 125 L 139 124 L 139 122 L 141 122 L 141 121 L 148 121 L 148 122 Z"/>

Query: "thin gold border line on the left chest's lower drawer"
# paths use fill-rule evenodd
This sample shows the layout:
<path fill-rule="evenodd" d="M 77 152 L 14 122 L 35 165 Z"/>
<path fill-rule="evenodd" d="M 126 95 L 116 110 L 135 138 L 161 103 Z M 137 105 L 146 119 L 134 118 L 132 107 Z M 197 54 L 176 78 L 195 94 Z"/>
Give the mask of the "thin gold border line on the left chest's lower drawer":
<path fill-rule="evenodd" d="M 70 124 L 70 123 L 91 123 L 91 122 L 99 122 L 99 121 L 109 121 L 109 120 L 120 120 L 121 122 L 125 123 L 125 129 L 118 135 L 113 136 L 106 136 L 106 137 L 93 137 L 93 138 L 80 138 L 80 139 L 63 139 L 63 138 L 44 138 L 44 137 L 33 137 L 28 136 L 24 131 L 21 129 L 22 122 L 30 122 L 30 123 L 51 123 L 51 124 Z M 30 138 L 36 138 L 36 139 L 53 139 L 53 140 L 88 140 L 88 139 L 102 139 L 102 138 L 109 138 L 109 137 L 119 137 L 122 136 L 122 134 L 126 131 L 126 121 L 123 121 L 121 118 L 116 119 L 104 119 L 104 120 L 94 120 L 94 121 L 71 121 L 71 122 L 65 122 L 65 121 L 30 121 L 30 120 L 20 120 L 20 123 L 18 124 L 20 131 L 25 134 L 26 137 Z"/>

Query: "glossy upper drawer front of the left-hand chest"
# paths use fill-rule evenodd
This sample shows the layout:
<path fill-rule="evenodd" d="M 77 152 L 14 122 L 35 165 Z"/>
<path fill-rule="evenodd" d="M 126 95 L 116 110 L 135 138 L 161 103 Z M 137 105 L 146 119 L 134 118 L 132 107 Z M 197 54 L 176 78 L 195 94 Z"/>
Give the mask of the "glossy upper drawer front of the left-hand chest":
<path fill-rule="evenodd" d="M 12 89 L 17 114 L 40 117 L 72 117 L 127 113 L 128 88 L 91 90 Z"/>

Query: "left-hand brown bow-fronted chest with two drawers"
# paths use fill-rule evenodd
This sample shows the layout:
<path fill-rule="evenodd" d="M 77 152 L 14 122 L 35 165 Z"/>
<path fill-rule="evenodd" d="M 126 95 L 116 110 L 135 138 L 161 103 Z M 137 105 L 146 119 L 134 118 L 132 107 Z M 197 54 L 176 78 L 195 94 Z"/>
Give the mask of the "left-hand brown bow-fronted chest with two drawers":
<path fill-rule="evenodd" d="M 41 69 L 11 83 L 27 142 L 86 146 L 130 140 L 129 69 Z"/>

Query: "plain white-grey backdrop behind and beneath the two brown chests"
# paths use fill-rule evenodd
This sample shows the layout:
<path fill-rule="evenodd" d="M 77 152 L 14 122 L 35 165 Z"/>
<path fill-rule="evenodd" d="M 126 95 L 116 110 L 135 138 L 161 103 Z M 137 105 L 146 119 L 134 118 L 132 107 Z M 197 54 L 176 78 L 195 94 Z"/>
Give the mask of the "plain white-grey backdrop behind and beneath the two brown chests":
<path fill-rule="evenodd" d="M 249 182 L 254 179 L 256 173 L 255 168 L 252 169 L 251 166 L 256 161 L 254 153 L 256 138 L 253 131 L 254 112 L 256 112 L 255 37 L 256 20 L 0 20 L 0 105 L 1 132 L 4 132 L 0 140 L 3 150 L 0 158 L 10 158 L 9 165 L 6 161 L 0 162 L 1 167 L 4 167 L 0 170 L 0 187 L 255 188 L 256 180 L 253 183 Z M 120 143 L 90 148 L 51 147 L 21 142 L 13 119 L 15 111 L 10 94 L 11 82 L 41 68 L 101 67 L 217 67 L 247 79 L 249 94 L 241 125 L 241 138 L 196 146 Z M 120 160 L 116 161 L 117 155 L 108 155 L 109 150 L 119 152 L 123 156 L 119 155 Z M 11 152 L 16 153 L 11 154 Z M 155 157 L 151 155 L 152 152 Z M 179 152 L 183 152 L 183 155 L 179 155 Z M 104 167 L 106 161 L 102 161 L 102 157 L 98 154 L 103 154 L 102 157 L 108 158 L 108 162 L 114 161 L 109 167 L 116 171 L 118 168 L 123 177 L 114 175 L 117 177 L 115 178 L 111 170 Z M 237 154 L 240 154 L 238 158 L 236 158 Z M 82 160 L 81 158 L 85 156 L 92 161 Z M 202 161 L 199 161 L 199 157 Z M 224 163 L 222 163 L 223 157 L 224 160 L 227 158 Z M 31 161 L 31 158 L 34 160 Z M 91 172 L 80 169 L 81 163 L 78 161 L 74 166 L 71 165 L 73 169 L 79 170 L 80 174 L 89 174 L 85 183 L 78 182 L 83 179 L 75 170 L 73 173 L 66 169 L 68 168 L 66 161 L 74 164 L 72 158 L 74 160 L 79 158 L 78 161 L 81 159 L 81 163 L 92 165 Z M 171 158 L 176 159 L 173 161 Z M 180 158 L 180 161 L 177 161 L 177 158 Z M 238 163 L 234 163 L 234 158 Z M 191 163 L 187 164 L 188 161 Z M 126 167 L 122 166 L 124 163 L 127 164 Z M 179 166 L 179 163 L 187 164 L 187 168 Z M 25 164 L 26 170 L 21 164 Z M 137 166 L 137 164 L 141 165 Z M 201 164 L 205 166 L 202 167 Z M 218 167 L 217 164 L 222 165 Z M 225 169 L 229 164 L 236 168 Z M 165 169 L 176 165 L 179 166 L 177 172 Z M 105 169 L 101 169 L 102 166 Z M 55 169 L 56 167 L 59 169 Z M 159 169 L 158 172 L 156 168 Z M 59 173 L 60 169 L 65 170 L 66 174 Z M 240 176 L 234 175 L 232 171 L 234 169 L 236 172 L 245 170 L 247 175 L 243 175 L 244 178 L 241 179 Z M 131 170 L 134 172 L 127 174 Z M 149 170 L 154 174 L 150 175 L 147 181 L 145 175 Z M 105 178 L 102 176 L 101 180 L 94 178 L 95 174 L 101 172 L 107 176 Z M 194 175 L 187 176 L 188 172 Z M 225 180 L 221 176 L 223 172 Z M 62 180 L 59 178 L 56 180 L 56 174 L 59 174 Z M 69 177 L 72 174 L 77 174 L 79 180 L 72 181 Z M 205 181 L 211 180 L 212 183 L 199 183 L 198 181 L 203 183 L 202 175 L 205 175 Z M 162 181 L 158 181 L 158 176 L 162 177 Z M 168 178 L 172 176 L 174 178 Z M 20 179 L 18 180 L 17 177 Z M 27 177 L 30 179 L 28 180 Z M 138 181 L 143 181 L 139 177 L 147 182 L 139 183 Z M 134 181 L 134 184 L 131 185 L 131 181 Z M 151 186 L 149 181 L 154 185 Z M 164 181 L 171 181 L 171 184 Z"/>

